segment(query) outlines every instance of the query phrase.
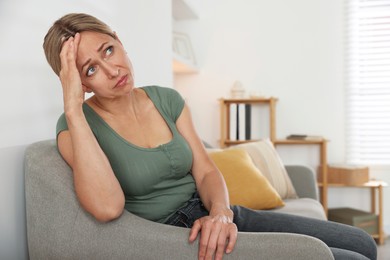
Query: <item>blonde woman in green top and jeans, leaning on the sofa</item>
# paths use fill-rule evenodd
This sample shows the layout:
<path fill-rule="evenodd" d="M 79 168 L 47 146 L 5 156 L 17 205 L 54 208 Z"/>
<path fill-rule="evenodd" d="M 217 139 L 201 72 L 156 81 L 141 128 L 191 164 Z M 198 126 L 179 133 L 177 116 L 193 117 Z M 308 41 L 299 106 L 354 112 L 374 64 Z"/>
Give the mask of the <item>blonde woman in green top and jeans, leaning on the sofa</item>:
<path fill-rule="evenodd" d="M 125 208 L 189 227 L 189 241 L 200 234 L 199 259 L 222 259 L 238 231 L 306 234 L 336 258 L 376 258 L 375 242 L 360 229 L 231 207 L 184 100 L 172 89 L 136 88 L 122 43 L 100 20 L 65 15 L 45 36 L 44 50 L 63 88 L 58 150 L 73 170 L 81 205 L 97 220 L 118 218 Z M 94 95 L 84 100 L 86 92 Z"/>

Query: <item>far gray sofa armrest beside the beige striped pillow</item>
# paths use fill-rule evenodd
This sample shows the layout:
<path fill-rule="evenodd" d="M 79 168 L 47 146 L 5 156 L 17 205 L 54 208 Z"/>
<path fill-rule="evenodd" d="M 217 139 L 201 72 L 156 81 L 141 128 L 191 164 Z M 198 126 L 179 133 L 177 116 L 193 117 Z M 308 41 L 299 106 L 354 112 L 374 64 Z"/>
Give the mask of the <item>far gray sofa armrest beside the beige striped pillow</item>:
<path fill-rule="evenodd" d="M 318 200 L 318 186 L 314 171 L 303 165 L 286 165 L 285 167 L 298 197 Z"/>

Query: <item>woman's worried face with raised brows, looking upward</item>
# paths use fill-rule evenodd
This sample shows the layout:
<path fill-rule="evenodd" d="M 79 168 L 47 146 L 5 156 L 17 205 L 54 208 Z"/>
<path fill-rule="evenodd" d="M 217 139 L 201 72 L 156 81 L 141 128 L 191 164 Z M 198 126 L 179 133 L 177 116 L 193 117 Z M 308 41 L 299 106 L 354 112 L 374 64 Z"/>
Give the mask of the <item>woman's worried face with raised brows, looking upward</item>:
<path fill-rule="evenodd" d="M 122 43 L 107 34 L 81 32 L 76 66 L 86 91 L 113 98 L 134 87 L 133 67 Z"/>

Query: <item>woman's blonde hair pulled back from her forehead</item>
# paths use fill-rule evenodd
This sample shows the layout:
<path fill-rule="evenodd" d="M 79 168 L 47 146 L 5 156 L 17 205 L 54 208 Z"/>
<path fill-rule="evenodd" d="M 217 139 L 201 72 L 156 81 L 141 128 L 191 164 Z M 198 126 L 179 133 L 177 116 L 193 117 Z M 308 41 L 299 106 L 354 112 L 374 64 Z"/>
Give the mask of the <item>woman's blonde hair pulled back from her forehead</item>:
<path fill-rule="evenodd" d="M 43 41 L 43 49 L 47 62 L 53 71 L 59 75 L 61 70 L 60 52 L 64 41 L 74 37 L 76 33 L 93 31 L 108 34 L 117 39 L 111 28 L 99 19 L 84 13 L 67 14 L 50 27 Z"/>

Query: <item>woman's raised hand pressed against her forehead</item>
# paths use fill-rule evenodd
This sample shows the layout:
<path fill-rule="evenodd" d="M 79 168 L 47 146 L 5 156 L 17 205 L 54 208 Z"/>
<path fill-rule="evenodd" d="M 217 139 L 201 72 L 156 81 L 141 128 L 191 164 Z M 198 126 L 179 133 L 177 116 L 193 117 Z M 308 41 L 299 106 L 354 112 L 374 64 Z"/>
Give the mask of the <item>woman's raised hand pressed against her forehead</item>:
<path fill-rule="evenodd" d="M 81 108 L 84 102 L 85 92 L 83 90 L 80 73 L 77 70 L 76 58 L 80 34 L 76 33 L 63 43 L 60 53 L 61 71 L 60 80 L 64 97 L 65 113 L 73 109 Z"/>

